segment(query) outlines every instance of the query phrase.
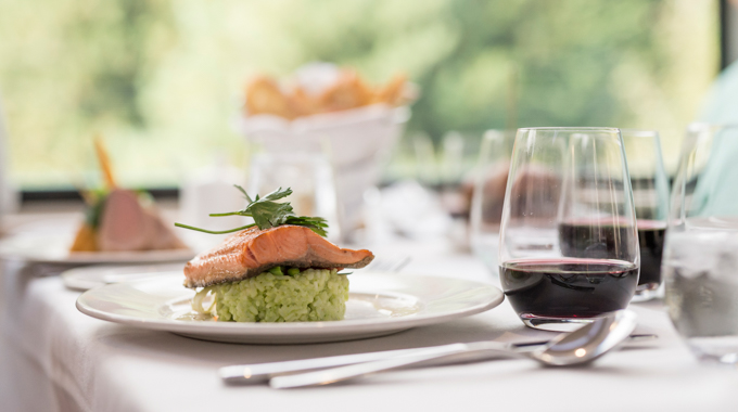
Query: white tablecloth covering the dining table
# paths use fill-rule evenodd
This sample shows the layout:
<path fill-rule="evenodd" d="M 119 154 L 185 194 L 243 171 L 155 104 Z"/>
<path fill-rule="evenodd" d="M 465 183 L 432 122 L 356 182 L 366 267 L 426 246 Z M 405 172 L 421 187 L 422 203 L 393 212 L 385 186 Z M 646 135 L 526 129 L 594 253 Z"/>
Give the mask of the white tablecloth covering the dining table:
<path fill-rule="evenodd" d="M 398 242 L 374 252 L 411 256 L 404 273 L 493 282 L 472 256 L 437 240 Z M 498 360 L 278 391 L 224 386 L 216 370 L 236 363 L 552 335 L 524 327 L 504 302 L 463 320 L 380 338 L 320 345 L 217 344 L 88 318 L 74 306 L 78 292 L 66 289 L 59 276 L 36 276 L 37 269 L 16 262 L 2 266 L 2 411 L 738 410 L 738 373 L 699 364 L 660 301 L 632 305 L 640 319 L 636 332 L 657 333 L 657 342 L 623 348 L 587 368 Z"/>

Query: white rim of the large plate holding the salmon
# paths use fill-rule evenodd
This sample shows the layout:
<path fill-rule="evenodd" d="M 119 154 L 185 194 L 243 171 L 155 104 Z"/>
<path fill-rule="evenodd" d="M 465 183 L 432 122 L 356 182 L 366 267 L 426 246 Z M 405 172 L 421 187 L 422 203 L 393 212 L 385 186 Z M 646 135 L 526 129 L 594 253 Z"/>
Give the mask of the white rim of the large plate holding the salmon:
<path fill-rule="evenodd" d="M 454 279 L 445 276 L 432 276 L 420 274 L 391 274 L 386 272 L 372 272 L 364 275 L 392 275 L 402 278 L 416 279 L 434 279 L 443 281 L 465 282 L 470 286 L 483 287 L 491 294 L 486 302 L 476 304 L 463 309 L 453 310 L 446 313 L 418 313 L 409 317 L 398 318 L 380 318 L 382 321 L 372 319 L 357 319 L 343 321 L 323 321 L 323 322 L 282 322 L 282 323 L 250 323 L 250 322 L 203 322 L 193 323 L 191 321 L 176 321 L 170 319 L 141 319 L 126 314 L 110 313 L 101 309 L 90 307 L 84 302 L 86 295 L 97 294 L 104 288 L 110 287 L 125 287 L 136 283 L 147 283 L 153 281 L 161 281 L 160 279 L 144 279 L 140 281 L 132 281 L 126 283 L 109 284 L 97 288 L 89 289 L 82 293 L 76 300 L 75 306 L 80 312 L 104 321 L 138 326 L 142 329 L 167 331 L 173 333 L 196 334 L 200 336 L 242 336 L 242 337 L 279 337 L 279 336 L 316 336 L 316 335 L 335 335 L 335 334 L 352 334 L 354 333 L 369 333 L 379 331 L 400 331 L 411 327 L 425 326 L 446 322 L 454 319 L 460 319 L 485 312 L 499 306 L 505 300 L 505 294 L 493 284 L 469 281 L 466 279 Z M 359 293 L 359 291 L 357 291 Z M 422 298 L 419 298 L 422 301 Z M 165 304 L 162 301 L 161 304 Z M 193 326 L 196 325 L 196 326 Z"/>

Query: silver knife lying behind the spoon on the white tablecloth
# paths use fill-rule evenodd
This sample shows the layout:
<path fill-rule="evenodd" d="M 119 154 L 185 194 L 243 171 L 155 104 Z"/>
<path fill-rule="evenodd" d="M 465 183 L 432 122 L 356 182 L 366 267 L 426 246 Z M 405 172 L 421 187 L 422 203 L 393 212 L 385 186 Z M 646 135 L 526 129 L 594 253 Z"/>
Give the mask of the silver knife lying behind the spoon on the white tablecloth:
<path fill-rule="evenodd" d="M 626 343 L 640 343 L 647 340 L 657 339 L 658 336 L 653 334 L 633 334 L 626 339 Z M 514 344 L 502 344 L 498 343 L 500 347 L 505 350 L 535 350 L 538 347 L 548 345 L 549 340 L 538 340 L 538 342 L 523 342 Z M 473 344 L 470 344 L 473 345 Z M 446 345 L 447 346 L 447 345 Z M 270 378 L 283 374 L 297 373 L 297 372 L 308 372 L 327 368 L 343 366 L 355 363 L 371 362 L 382 359 L 387 359 L 397 356 L 407 356 L 411 353 L 418 353 L 427 349 L 425 348 L 410 348 L 410 349 L 397 349 L 397 350 L 384 350 L 379 352 L 368 352 L 368 353 L 354 353 L 354 355 L 341 355 L 335 357 L 326 358 L 313 358 L 313 359 L 301 359 L 293 361 L 282 361 L 282 362 L 269 362 L 269 363 L 256 363 L 256 364 L 241 364 L 220 368 L 218 371 L 220 378 L 228 385 L 251 385 L 251 384 L 262 384 L 268 382 Z M 481 357 L 478 360 L 485 360 L 494 358 L 498 355 L 494 353 L 480 353 Z M 460 360 L 457 358 L 443 358 L 434 361 L 433 363 L 423 363 L 423 366 L 428 365 L 441 365 L 459 363 L 462 361 L 470 362 L 473 359 Z"/>

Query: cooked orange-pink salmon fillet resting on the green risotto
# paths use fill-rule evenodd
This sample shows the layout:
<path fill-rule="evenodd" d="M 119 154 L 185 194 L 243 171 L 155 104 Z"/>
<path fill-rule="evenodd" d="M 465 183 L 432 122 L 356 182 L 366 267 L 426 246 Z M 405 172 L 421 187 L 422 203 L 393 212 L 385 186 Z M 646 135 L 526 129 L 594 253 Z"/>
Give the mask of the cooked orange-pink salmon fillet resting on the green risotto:
<path fill-rule="evenodd" d="M 203 287 L 256 276 L 276 266 L 292 268 L 364 268 L 374 255 L 343 249 L 308 228 L 284 224 L 249 228 L 195 256 L 184 266 L 184 286 Z"/>

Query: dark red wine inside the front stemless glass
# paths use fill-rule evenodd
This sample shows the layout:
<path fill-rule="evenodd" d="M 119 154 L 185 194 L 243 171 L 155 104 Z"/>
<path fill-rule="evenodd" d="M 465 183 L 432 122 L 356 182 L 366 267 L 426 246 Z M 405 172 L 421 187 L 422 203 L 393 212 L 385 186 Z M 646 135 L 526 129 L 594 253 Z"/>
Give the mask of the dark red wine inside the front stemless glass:
<path fill-rule="evenodd" d="M 505 295 L 521 318 L 591 318 L 624 309 L 638 269 L 594 259 L 530 259 L 499 268 Z"/>

